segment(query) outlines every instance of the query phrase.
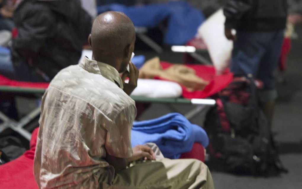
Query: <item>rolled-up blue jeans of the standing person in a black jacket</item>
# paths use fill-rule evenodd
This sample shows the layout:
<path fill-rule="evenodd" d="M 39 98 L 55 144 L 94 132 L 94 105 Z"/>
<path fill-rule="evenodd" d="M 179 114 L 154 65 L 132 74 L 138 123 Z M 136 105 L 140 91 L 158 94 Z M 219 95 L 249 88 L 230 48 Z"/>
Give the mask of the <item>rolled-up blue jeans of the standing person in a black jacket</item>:
<path fill-rule="evenodd" d="M 237 31 L 230 70 L 235 75 L 253 76 L 263 82 L 260 101 L 277 98 L 274 71 L 278 66 L 284 31 L 247 32 Z"/>

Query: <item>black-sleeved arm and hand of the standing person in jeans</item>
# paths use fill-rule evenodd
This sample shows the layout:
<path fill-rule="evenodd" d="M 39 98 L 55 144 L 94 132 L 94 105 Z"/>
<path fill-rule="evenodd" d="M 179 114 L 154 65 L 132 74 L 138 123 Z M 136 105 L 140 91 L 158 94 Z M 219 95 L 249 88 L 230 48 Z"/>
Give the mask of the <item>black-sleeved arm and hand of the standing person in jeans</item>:
<path fill-rule="evenodd" d="M 236 29 L 242 16 L 252 8 L 253 0 L 229 0 L 223 8 L 223 14 L 226 17 L 225 35 L 229 40 L 235 40 L 231 32 Z"/>

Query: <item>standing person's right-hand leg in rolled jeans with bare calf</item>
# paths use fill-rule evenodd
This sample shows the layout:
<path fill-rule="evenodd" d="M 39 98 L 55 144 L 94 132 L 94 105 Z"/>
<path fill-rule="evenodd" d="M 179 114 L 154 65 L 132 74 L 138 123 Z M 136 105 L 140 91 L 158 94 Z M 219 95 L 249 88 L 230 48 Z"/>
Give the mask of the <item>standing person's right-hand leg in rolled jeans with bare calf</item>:
<path fill-rule="evenodd" d="M 260 103 L 269 124 L 271 125 L 275 107 L 275 99 L 277 98 L 276 78 L 274 71 L 278 66 L 281 52 L 282 41 L 284 39 L 284 31 L 270 32 L 271 41 L 267 47 L 258 71 L 258 78 L 263 81 L 263 90 L 260 91 Z"/>

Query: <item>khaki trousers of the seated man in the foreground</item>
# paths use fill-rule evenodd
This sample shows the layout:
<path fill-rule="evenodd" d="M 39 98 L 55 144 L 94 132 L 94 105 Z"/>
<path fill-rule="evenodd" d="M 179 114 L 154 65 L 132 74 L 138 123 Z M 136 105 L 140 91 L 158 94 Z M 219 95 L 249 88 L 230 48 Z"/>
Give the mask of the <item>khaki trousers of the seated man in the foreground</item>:
<path fill-rule="evenodd" d="M 147 161 L 118 172 L 110 186 L 120 189 L 214 189 L 208 167 L 194 159 Z"/>

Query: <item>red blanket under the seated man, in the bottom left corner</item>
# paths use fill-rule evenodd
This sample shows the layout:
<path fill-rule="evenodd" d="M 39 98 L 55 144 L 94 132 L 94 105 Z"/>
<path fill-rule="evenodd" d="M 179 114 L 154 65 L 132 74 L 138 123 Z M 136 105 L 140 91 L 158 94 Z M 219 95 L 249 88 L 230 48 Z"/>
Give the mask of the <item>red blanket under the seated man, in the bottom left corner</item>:
<path fill-rule="evenodd" d="M 0 166 L 0 188 L 38 189 L 33 173 L 37 135 L 38 128 L 32 134 L 30 149 L 19 158 Z"/>

